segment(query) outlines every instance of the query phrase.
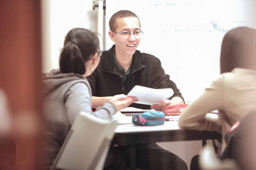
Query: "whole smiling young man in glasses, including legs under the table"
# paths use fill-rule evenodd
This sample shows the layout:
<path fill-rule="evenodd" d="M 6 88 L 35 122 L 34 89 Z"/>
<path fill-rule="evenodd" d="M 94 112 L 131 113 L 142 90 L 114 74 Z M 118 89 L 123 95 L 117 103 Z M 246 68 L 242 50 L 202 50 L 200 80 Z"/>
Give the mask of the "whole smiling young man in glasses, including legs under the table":
<path fill-rule="evenodd" d="M 170 100 L 151 106 L 155 110 L 184 104 L 179 89 L 165 74 L 159 59 L 136 50 L 142 34 L 137 15 L 127 10 L 118 11 L 110 18 L 109 27 L 109 36 L 115 45 L 103 52 L 97 69 L 87 77 L 92 89 L 93 106 L 103 105 L 115 94 L 127 94 L 135 85 L 174 90 Z M 134 103 L 130 106 L 150 109 L 149 105 Z M 187 169 L 181 158 L 156 143 L 136 145 L 135 150 L 136 166 L 140 169 Z M 128 147 L 110 147 L 104 169 L 126 169 L 128 151 Z"/>

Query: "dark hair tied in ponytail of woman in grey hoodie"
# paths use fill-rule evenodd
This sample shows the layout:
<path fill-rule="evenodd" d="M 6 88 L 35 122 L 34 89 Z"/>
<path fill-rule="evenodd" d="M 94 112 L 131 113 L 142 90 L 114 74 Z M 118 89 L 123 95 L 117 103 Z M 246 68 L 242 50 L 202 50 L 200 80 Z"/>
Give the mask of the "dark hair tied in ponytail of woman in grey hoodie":
<path fill-rule="evenodd" d="M 62 73 L 85 74 L 85 62 L 99 51 L 99 39 L 96 33 L 84 28 L 71 29 L 64 41 L 59 58 Z"/>

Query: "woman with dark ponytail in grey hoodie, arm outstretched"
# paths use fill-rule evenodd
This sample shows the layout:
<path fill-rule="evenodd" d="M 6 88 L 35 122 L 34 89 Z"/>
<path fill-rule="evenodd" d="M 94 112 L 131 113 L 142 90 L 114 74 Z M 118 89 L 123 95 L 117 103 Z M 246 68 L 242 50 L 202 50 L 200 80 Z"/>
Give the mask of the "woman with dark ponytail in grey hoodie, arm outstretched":
<path fill-rule="evenodd" d="M 86 77 L 98 66 L 100 56 L 96 33 L 84 28 L 71 29 L 65 37 L 59 69 L 51 70 L 43 77 L 45 112 L 50 122 L 47 167 L 53 163 L 79 112 L 110 120 L 113 114 L 138 100 L 115 95 L 95 112 L 91 110 L 91 87 Z"/>

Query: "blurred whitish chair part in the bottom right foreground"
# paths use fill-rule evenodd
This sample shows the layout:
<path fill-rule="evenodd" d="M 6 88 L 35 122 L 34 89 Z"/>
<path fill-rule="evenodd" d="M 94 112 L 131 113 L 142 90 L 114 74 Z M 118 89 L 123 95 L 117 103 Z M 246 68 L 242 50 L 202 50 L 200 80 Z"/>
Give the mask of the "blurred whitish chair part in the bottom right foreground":
<path fill-rule="evenodd" d="M 203 147 L 199 155 L 199 166 L 202 170 L 240 170 L 233 159 L 219 160 L 210 145 Z"/>

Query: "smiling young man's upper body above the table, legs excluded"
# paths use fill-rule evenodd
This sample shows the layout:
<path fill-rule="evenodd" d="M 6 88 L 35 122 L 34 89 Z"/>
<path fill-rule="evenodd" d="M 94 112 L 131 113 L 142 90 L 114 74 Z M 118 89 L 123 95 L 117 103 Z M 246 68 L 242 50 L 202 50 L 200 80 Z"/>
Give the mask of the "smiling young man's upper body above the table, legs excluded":
<path fill-rule="evenodd" d="M 152 109 L 162 111 L 169 105 L 184 104 L 184 99 L 170 76 L 165 74 L 160 60 L 150 54 L 136 50 L 142 31 L 136 14 L 122 10 L 109 20 L 109 36 L 115 42 L 104 51 L 94 73 L 88 77 L 92 89 L 93 106 L 101 106 L 116 94 L 128 94 L 135 86 L 150 88 L 172 88 L 174 95 Z M 133 103 L 131 107 L 150 109 L 150 105 Z"/>

